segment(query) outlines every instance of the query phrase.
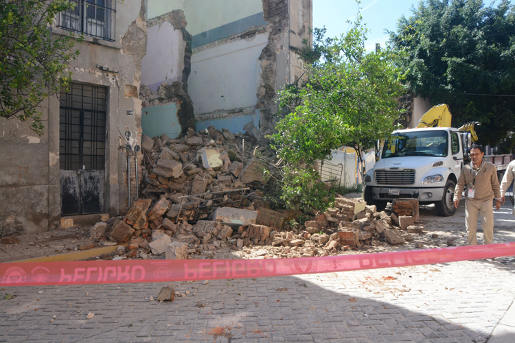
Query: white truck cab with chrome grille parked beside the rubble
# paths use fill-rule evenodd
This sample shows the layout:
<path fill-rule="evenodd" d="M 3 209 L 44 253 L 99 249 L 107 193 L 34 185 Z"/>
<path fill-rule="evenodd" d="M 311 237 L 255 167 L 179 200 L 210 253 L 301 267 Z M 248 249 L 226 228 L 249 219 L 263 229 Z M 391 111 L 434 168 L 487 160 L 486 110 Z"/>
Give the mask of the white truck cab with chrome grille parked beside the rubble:
<path fill-rule="evenodd" d="M 394 131 L 365 174 L 365 201 L 381 211 L 393 199 L 413 198 L 435 204 L 438 215 L 454 215 L 454 189 L 468 153 L 464 140 L 456 128 Z"/>

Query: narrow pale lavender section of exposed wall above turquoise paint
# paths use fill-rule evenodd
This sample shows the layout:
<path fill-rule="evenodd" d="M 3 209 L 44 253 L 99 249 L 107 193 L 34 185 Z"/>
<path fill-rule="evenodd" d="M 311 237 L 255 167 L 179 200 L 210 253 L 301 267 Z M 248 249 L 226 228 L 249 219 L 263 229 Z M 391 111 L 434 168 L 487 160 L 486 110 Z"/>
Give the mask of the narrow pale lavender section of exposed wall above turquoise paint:
<path fill-rule="evenodd" d="M 141 61 L 141 83 L 155 91 L 163 82 L 181 81 L 186 45 L 181 30 L 165 21 L 149 27 L 147 34 L 147 54 Z"/>

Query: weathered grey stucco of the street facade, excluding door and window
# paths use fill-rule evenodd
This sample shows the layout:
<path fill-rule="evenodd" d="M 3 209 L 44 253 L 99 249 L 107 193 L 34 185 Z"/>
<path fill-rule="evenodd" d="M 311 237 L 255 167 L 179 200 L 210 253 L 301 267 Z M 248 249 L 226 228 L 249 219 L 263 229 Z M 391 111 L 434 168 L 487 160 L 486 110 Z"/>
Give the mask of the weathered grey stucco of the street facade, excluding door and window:
<path fill-rule="evenodd" d="M 130 90 L 139 88 L 141 59 L 146 51 L 143 3 L 119 3 L 115 42 L 86 36 L 84 43 L 76 45 L 80 55 L 69 68 L 73 82 L 108 88 L 104 189 L 106 211 L 111 215 L 124 211 L 127 202 L 126 159 L 117 149 L 118 130 L 130 130 L 141 137 L 141 101 L 137 92 Z M 68 34 L 55 27 L 53 30 L 55 34 Z M 102 71 L 98 65 L 112 71 Z M 1 235 L 13 230 L 38 232 L 59 226 L 59 106 L 57 97 L 43 102 L 42 137 L 19 121 L 0 119 Z M 126 110 L 134 110 L 135 115 L 126 115 Z"/>

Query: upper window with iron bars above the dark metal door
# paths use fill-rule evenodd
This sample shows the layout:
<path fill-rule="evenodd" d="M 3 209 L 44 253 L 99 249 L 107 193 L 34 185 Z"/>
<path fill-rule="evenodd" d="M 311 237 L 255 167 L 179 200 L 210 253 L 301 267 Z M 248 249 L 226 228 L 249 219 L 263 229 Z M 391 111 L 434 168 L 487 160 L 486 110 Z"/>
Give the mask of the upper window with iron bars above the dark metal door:
<path fill-rule="evenodd" d="M 60 12 L 57 26 L 87 36 L 115 40 L 116 0 L 71 0 L 74 8 Z"/>

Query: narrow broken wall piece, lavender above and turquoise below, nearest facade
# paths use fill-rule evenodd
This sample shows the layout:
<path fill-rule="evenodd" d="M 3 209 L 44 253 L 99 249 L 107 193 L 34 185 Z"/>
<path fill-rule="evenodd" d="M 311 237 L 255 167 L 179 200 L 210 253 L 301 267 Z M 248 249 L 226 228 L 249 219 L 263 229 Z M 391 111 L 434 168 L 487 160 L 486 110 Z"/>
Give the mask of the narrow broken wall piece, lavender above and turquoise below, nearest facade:
<path fill-rule="evenodd" d="M 188 95 L 191 72 L 191 35 L 183 10 L 147 21 L 147 55 L 141 65 L 144 134 L 175 138 L 195 128 L 193 104 Z"/>

